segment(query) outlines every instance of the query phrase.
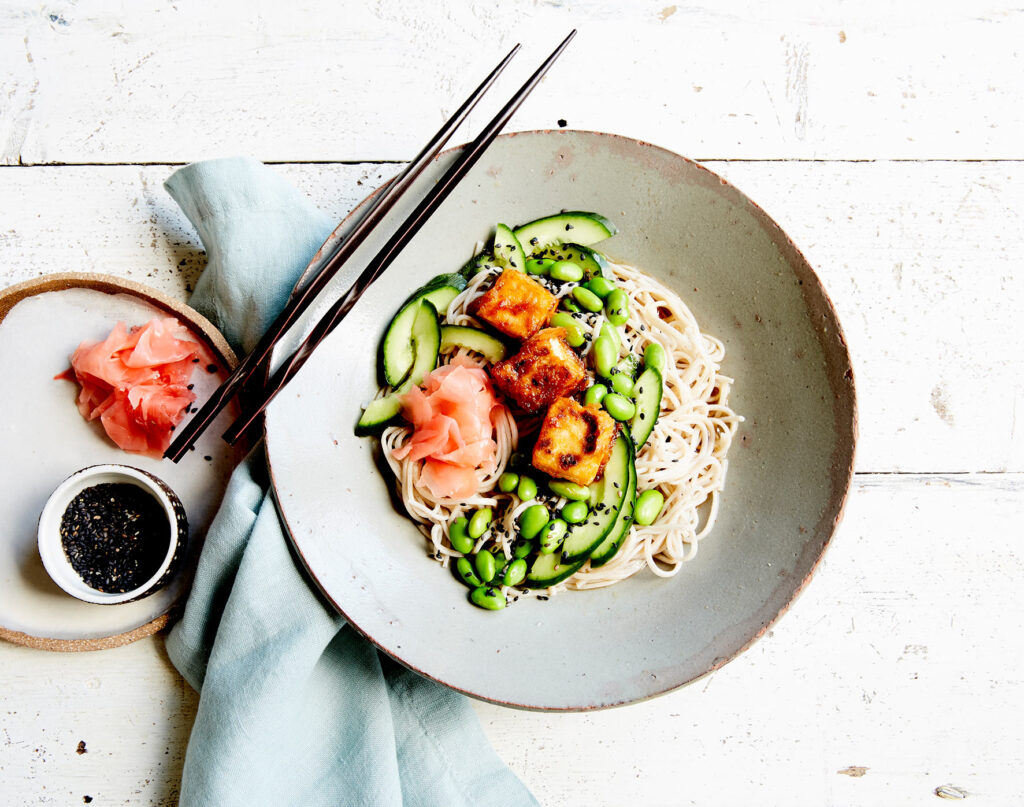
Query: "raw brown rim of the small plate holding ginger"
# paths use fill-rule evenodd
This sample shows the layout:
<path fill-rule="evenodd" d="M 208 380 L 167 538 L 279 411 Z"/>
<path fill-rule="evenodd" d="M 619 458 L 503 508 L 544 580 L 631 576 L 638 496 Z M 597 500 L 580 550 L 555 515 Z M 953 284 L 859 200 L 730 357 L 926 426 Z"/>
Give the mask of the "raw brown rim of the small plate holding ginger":
<path fill-rule="evenodd" d="M 184 320 L 190 328 L 198 331 L 206 339 L 208 345 L 229 370 L 233 370 L 239 364 L 234 350 L 227 343 L 223 334 L 195 308 L 158 289 L 114 274 L 80 271 L 53 272 L 7 286 L 0 289 L 0 323 L 3 323 L 15 305 L 29 297 L 49 292 L 70 291 L 71 289 L 90 289 L 103 294 L 131 294 L 140 297 L 152 305 L 175 313 Z M 178 601 L 168 605 L 167 610 L 163 613 L 129 631 L 88 639 L 56 639 L 11 630 L 0 625 L 0 639 L 25 647 L 56 652 L 80 652 L 121 647 L 163 630 L 171 622 L 172 615 L 176 614 L 181 607 L 180 603 L 187 597 L 189 589 L 190 586 L 185 586 Z"/>

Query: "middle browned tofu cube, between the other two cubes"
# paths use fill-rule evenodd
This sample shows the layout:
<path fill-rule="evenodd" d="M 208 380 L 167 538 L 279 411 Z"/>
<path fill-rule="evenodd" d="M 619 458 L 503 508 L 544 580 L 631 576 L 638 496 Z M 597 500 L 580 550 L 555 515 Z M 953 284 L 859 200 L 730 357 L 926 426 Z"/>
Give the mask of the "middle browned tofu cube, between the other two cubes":
<path fill-rule="evenodd" d="M 490 368 L 490 378 L 523 412 L 540 412 L 551 401 L 587 385 L 587 368 L 565 341 L 564 328 L 545 328 L 522 343 L 514 356 Z"/>

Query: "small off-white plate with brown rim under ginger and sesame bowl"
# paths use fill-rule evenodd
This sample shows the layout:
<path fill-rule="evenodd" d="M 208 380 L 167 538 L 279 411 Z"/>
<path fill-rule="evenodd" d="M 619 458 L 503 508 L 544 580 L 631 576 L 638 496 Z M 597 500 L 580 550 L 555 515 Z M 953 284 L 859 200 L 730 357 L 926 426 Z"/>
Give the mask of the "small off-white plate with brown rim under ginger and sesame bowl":
<path fill-rule="evenodd" d="M 179 464 L 121 451 L 75 405 L 78 385 L 54 376 L 83 339 L 102 339 L 119 320 L 143 325 L 176 316 L 202 340 L 216 369 L 197 365 L 204 400 L 234 366 L 217 330 L 191 308 L 139 284 L 100 274 L 51 274 L 0 292 L 0 637 L 53 650 L 113 647 L 162 628 L 187 590 L 190 569 L 240 450 L 220 439 L 237 416 L 222 413 Z M 191 526 L 181 571 L 152 597 L 119 605 L 82 602 L 43 568 L 36 529 L 53 490 L 89 465 L 132 465 L 163 479 L 181 499 Z"/>

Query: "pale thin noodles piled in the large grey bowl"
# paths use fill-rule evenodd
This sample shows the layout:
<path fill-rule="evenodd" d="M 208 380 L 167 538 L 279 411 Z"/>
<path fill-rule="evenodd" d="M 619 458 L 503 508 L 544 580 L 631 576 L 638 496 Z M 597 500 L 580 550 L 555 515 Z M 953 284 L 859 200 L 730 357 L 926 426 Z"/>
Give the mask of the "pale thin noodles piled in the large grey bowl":
<path fill-rule="evenodd" d="M 665 507 L 649 526 L 633 524 L 617 554 L 600 568 L 585 564 L 580 571 L 556 589 L 592 589 L 610 586 L 649 568 L 658 577 L 671 577 L 684 561 L 690 560 L 697 547 L 715 525 L 719 494 L 725 484 L 728 468 L 726 453 L 737 424 L 742 420 L 728 406 L 732 379 L 719 370 L 725 355 L 722 343 L 700 333 L 693 314 L 674 292 L 632 266 L 612 263 L 609 266 L 618 288 L 630 298 L 630 318 L 625 326 L 622 355 L 631 352 L 642 355 L 646 345 L 656 342 L 666 352 L 667 366 L 663 374 L 664 393 L 660 414 L 647 443 L 636 459 L 637 492 L 656 487 L 665 495 Z M 450 325 L 480 327 L 468 313 L 469 304 L 489 286 L 496 269 L 481 271 L 449 306 L 445 322 Z M 556 296 L 565 296 L 575 284 L 539 281 Z M 600 332 L 604 316 L 601 312 L 584 314 L 581 329 L 590 338 L 586 349 Z M 442 356 L 449 362 L 455 355 L 465 355 L 485 367 L 475 353 L 459 349 Z M 383 393 L 383 390 L 382 390 Z M 553 512 L 565 500 L 542 496 L 539 500 L 521 502 L 515 493 L 496 491 L 498 477 L 505 471 L 520 434 L 529 436 L 541 425 L 542 416 L 517 417 L 502 407 L 496 417 L 495 438 L 498 458 L 495 468 L 478 472 L 476 496 L 469 499 L 435 499 L 418 484 L 422 461 L 395 460 L 393 449 L 412 436 L 407 426 L 385 429 L 381 440 L 397 481 L 401 500 L 410 516 L 430 541 L 430 554 L 443 564 L 459 557 L 447 540 L 449 524 L 459 516 L 470 516 L 481 507 L 495 508 L 496 518 L 489 534 L 474 548 L 497 542 L 505 557 L 512 557 L 516 538 L 515 522 L 519 514 L 538 501 L 549 505 Z M 540 474 L 538 474 L 540 476 Z M 544 485 L 541 485 L 543 489 Z M 505 590 L 512 598 L 525 594 L 525 589 Z M 551 593 L 549 590 L 548 593 Z"/>

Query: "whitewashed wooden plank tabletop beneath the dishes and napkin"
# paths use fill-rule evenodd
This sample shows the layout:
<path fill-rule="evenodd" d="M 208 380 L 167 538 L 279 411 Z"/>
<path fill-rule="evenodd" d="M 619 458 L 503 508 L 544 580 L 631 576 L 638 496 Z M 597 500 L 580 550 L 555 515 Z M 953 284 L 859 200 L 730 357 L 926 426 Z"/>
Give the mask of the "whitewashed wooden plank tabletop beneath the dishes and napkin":
<path fill-rule="evenodd" d="M 650 140 L 760 203 L 846 329 L 858 473 L 820 570 L 739 659 L 599 714 L 478 704 L 487 734 L 552 807 L 1020 804 L 1020 7 L 9 0 L 0 285 L 102 271 L 184 297 L 204 256 L 161 186 L 175 164 L 280 163 L 341 217 L 512 41 L 532 37 L 506 88 L 571 27 L 510 128 Z M 176 803 L 197 695 L 162 636 L 0 643 L 0 681 L 4 804 Z"/>

